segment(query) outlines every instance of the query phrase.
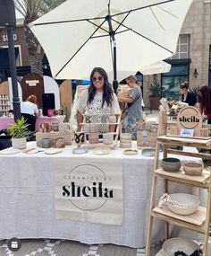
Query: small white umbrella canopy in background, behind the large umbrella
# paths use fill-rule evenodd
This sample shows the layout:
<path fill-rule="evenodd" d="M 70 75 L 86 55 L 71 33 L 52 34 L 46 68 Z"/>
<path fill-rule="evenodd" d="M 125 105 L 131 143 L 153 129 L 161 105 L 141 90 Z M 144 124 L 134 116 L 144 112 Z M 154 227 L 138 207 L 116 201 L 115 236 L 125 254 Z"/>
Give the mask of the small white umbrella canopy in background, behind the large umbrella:
<path fill-rule="evenodd" d="M 171 67 L 171 64 L 168 64 L 165 61 L 160 60 L 152 65 L 140 68 L 139 72 L 143 75 L 160 74 L 169 72 L 171 70 Z"/>

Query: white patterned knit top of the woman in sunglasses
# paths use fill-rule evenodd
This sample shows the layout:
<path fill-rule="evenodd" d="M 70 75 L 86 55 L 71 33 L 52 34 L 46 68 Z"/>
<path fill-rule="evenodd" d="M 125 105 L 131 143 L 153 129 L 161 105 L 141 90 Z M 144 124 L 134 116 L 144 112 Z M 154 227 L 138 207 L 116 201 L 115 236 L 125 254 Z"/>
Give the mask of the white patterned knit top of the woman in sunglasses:
<path fill-rule="evenodd" d="M 114 100 L 111 106 L 104 103 L 102 108 L 102 97 L 103 92 L 97 92 L 93 102 L 88 104 L 88 90 L 83 91 L 80 94 L 79 101 L 76 102 L 76 110 L 79 110 L 81 114 L 91 113 L 91 114 L 120 114 L 120 106 L 115 93 L 113 93 Z"/>

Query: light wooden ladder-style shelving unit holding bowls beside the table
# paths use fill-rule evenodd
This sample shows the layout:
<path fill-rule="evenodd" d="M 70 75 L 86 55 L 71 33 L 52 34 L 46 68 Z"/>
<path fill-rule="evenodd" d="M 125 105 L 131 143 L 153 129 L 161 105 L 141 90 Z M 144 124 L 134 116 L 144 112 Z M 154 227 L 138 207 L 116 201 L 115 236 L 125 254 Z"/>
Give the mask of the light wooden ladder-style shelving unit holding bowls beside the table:
<path fill-rule="evenodd" d="M 161 110 L 162 112 L 162 110 Z M 159 149 L 163 145 L 164 157 L 168 154 L 181 154 L 189 155 L 199 158 L 211 159 L 211 154 L 202 153 L 190 153 L 183 152 L 176 149 L 170 149 L 169 146 L 192 146 L 197 148 L 211 149 L 211 138 L 190 138 L 190 137 L 177 137 L 177 136 L 166 136 L 167 124 L 165 122 L 165 111 L 163 113 L 163 118 L 159 126 L 159 136 L 156 139 L 156 158 L 154 165 L 154 175 L 151 190 L 150 199 L 150 216 L 148 220 L 148 236 L 147 236 L 147 247 L 146 256 L 150 256 L 150 244 L 151 244 L 151 234 L 153 226 L 153 218 L 156 217 L 165 221 L 165 240 L 169 238 L 169 226 L 168 225 L 178 225 L 190 230 L 194 230 L 198 233 L 204 234 L 204 247 L 203 256 L 208 255 L 208 235 L 209 235 L 209 224 L 211 215 L 211 182 L 210 182 L 210 170 L 203 170 L 201 176 L 190 176 L 183 172 L 181 167 L 180 172 L 165 172 L 162 168 L 158 168 L 159 161 Z M 207 207 L 198 207 L 198 210 L 189 216 L 181 216 L 173 213 L 168 209 L 168 207 L 156 207 L 156 184 L 157 179 L 165 180 L 164 192 L 168 192 L 168 181 L 179 182 L 189 184 L 198 188 L 202 188 L 208 191 L 207 194 Z M 165 253 L 163 249 L 156 254 L 156 256 L 163 256 Z"/>

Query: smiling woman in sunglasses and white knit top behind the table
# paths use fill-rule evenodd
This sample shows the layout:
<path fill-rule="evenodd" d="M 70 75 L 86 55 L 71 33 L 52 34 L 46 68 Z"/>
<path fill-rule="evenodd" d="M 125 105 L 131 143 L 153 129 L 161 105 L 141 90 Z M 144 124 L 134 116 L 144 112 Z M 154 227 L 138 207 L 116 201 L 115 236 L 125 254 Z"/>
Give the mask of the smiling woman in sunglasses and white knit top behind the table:
<path fill-rule="evenodd" d="M 95 67 L 92 70 L 90 82 L 89 89 L 80 94 L 79 101 L 76 103 L 78 130 L 83 121 L 82 114 L 114 115 L 121 113 L 117 97 L 102 67 Z M 110 131 L 114 131 L 114 126 L 110 128 Z"/>

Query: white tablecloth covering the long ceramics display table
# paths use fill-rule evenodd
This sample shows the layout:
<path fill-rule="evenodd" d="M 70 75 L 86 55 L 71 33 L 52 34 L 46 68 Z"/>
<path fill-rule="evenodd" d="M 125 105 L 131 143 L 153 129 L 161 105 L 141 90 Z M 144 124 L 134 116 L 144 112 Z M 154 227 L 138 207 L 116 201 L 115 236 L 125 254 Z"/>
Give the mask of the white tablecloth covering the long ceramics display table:
<path fill-rule="evenodd" d="M 153 173 L 153 157 L 127 156 L 123 149 L 112 154 L 72 154 L 67 146 L 62 154 L 13 154 L 0 156 L 0 238 L 63 238 L 81 243 L 115 243 L 131 247 L 146 245 L 148 209 Z M 122 225 L 100 225 L 55 218 L 53 159 L 122 158 Z M 181 157 L 182 159 L 182 157 Z M 183 158 L 184 159 L 184 158 Z M 187 159 L 187 158 L 186 158 Z M 61 166 L 63 168 L 63 166 Z M 114 167 L 115 172 L 115 167 Z M 193 192 L 188 186 L 174 184 L 173 191 Z M 162 191 L 162 192 L 161 192 Z M 195 191 L 196 193 L 198 190 Z M 157 199 L 163 193 L 158 183 Z M 163 238 L 161 222 L 154 225 L 153 241 Z"/>

